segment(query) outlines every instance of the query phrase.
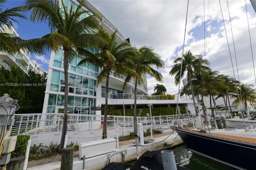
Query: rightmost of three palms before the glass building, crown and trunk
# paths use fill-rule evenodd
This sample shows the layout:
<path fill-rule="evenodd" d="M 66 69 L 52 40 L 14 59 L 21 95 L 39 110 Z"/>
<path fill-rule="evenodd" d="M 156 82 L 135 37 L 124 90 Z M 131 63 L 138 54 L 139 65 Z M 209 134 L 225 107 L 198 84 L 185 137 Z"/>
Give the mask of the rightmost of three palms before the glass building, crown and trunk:
<path fill-rule="evenodd" d="M 138 83 L 143 83 L 143 75 L 151 75 L 157 81 L 162 81 L 162 74 L 153 68 L 163 68 L 164 62 L 157 56 L 153 48 L 142 46 L 137 49 L 136 55 L 133 56 L 132 60 L 128 61 L 127 66 L 134 70 L 137 75 L 127 74 L 124 81 L 123 88 L 126 87 L 127 83 L 135 78 L 135 88 L 134 88 L 134 108 L 133 108 L 133 130 L 137 133 L 137 86 Z"/>

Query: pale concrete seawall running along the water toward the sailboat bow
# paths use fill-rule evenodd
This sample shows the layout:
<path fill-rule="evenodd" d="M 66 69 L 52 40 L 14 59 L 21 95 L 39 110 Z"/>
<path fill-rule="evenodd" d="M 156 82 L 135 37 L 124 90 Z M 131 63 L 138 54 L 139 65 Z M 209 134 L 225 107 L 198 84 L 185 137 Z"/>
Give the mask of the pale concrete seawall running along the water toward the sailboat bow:
<path fill-rule="evenodd" d="M 170 132 L 171 134 L 171 132 Z M 164 143 L 171 143 L 171 145 L 165 146 Z M 180 145 L 183 143 L 182 139 L 179 137 L 178 133 L 174 132 L 170 136 L 165 135 L 159 138 L 155 138 L 154 143 L 149 143 L 148 145 L 138 146 L 139 156 L 141 156 L 147 150 L 165 150 L 172 148 L 174 146 Z M 122 154 L 124 155 L 124 161 L 122 160 Z M 85 169 L 86 170 L 98 170 L 105 167 L 109 162 L 131 162 L 136 159 L 136 147 L 133 144 L 124 145 L 116 149 L 115 152 L 110 152 L 108 154 L 95 156 L 87 158 L 85 160 Z M 81 170 L 83 168 L 83 160 L 79 157 L 74 158 L 73 170 Z M 34 166 L 28 168 L 29 170 L 41 169 L 60 169 L 60 162 L 54 162 L 49 164 L 44 164 L 40 166 Z"/>

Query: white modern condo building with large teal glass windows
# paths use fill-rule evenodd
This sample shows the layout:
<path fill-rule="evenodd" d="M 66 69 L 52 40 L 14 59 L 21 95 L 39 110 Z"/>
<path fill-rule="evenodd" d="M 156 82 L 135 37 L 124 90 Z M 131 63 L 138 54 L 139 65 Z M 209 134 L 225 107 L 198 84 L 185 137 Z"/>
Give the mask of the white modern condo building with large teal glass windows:
<path fill-rule="evenodd" d="M 79 1 L 70 0 L 63 1 L 67 7 L 73 6 L 76 10 Z M 90 2 L 86 1 L 83 7 L 84 10 L 90 11 L 91 14 L 98 14 L 101 16 L 101 25 L 110 34 L 116 30 L 116 27 L 104 16 L 97 8 Z M 83 17 L 86 17 L 84 15 Z M 126 37 L 127 38 L 127 37 Z M 127 41 L 121 32 L 117 31 L 117 43 Z M 97 53 L 97 49 L 91 49 L 92 53 Z M 100 68 L 90 63 L 77 66 L 81 61 L 81 57 L 74 58 L 69 64 L 69 93 L 68 93 L 68 113 L 88 114 L 87 108 L 89 106 L 97 106 L 105 104 L 105 81 L 97 86 L 97 77 Z M 147 90 L 147 80 L 143 77 L 144 83 L 138 85 L 138 105 L 147 107 L 148 104 L 154 105 L 171 105 L 175 104 L 177 100 L 159 100 L 156 96 L 150 98 Z M 123 90 L 123 83 L 125 75 L 118 74 L 114 70 L 110 73 L 109 80 L 109 105 L 121 106 L 131 108 L 134 102 L 134 80 L 132 80 L 125 90 Z M 63 69 L 63 51 L 60 50 L 58 54 L 51 53 L 49 72 L 47 77 L 47 84 L 45 91 L 43 113 L 63 113 L 64 109 L 64 69 Z M 192 100 L 181 100 L 180 104 L 187 105 L 190 110 L 193 110 Z M 191 107 L 190 107 L 191 105 Z M 100 111 L 91 111 L 91 114 L 101 114 Z"/>

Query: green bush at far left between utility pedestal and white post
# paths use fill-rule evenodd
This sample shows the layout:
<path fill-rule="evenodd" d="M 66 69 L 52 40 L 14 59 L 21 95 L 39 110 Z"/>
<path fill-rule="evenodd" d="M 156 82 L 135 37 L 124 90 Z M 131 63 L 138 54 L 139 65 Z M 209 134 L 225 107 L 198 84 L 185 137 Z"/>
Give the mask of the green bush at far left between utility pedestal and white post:
<path fill-rule="evenodd" d="M 12 152 L 11 158 L 18 156 L 24 156 L 26 154 L 27 142 L 30 139 L 29 135 L 17 136 L 17 142 L 14 151 Z"/>

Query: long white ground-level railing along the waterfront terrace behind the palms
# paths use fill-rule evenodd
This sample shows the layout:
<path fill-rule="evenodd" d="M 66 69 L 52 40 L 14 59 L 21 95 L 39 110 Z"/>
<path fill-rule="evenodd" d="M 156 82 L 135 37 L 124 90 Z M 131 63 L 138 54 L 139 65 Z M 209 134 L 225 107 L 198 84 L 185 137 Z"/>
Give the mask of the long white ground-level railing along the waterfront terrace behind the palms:
<path fill-rule="evenodd" d="M 101 130 L 103 115 L 68 114 L 68 131 L 93 131 Z M 60 132 L 62 129 L 63 114 L 16 114 L 12 135 L 37 134 L 47 132 Z M 174 125 L 175 120 L 182 120 L 185 123 L 193 122 L 193 115 L 166 115 L 151 117 L 137 117 L 138 123 L 143 124 L 144 129 L 150 129 L 151 122 L 154 129 Z M 107 116 L 107 129 L 126 129 L 133 131 L 132 116 Z"/>

